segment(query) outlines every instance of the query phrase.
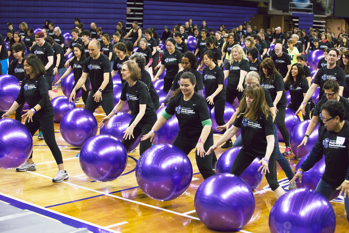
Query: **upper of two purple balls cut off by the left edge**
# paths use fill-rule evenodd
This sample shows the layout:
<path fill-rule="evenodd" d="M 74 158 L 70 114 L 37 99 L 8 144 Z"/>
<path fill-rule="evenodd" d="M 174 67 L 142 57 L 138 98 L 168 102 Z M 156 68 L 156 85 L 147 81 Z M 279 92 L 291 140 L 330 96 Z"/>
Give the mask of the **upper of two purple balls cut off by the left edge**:
<path fill-rule="evenodd" d="M 19 79 L 9 74 L 0 75 L 0 111 L 8 111 L 20 93 Z"/>

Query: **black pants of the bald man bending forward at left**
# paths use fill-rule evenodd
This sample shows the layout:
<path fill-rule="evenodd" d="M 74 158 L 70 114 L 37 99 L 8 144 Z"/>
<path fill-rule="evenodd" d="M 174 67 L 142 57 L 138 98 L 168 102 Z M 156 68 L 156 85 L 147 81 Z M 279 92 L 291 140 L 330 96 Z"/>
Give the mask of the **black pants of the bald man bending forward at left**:
<path fill-rule="evenodd" d="M 104 94 L 102 93 L 102 100 L 99 100 L 99 102 L 96 102 L 95 97 L 92 97 L 94 94 L 95 92 L 90 92 L 86 100 L 85 109 L 94 113 L 99 104 L 101 104 L 105 114 L 108 116 L 114 108 L 114 94 L 112 92 Z"/>

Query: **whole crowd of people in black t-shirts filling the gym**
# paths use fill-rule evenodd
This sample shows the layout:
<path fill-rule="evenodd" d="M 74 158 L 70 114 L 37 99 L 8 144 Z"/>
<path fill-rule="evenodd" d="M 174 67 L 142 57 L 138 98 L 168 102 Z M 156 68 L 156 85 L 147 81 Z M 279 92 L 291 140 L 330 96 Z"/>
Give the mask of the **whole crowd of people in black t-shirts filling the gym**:
<path fill-rule="evenodd" d="M 75 83 L 69 101 L 74 100 L 81 90 L 86 109 L 94 112 L 101 105 L 107 115 L 100 123 L 101 127 L 128 101 L 133 119 L 122 141 L 127 150 L 142 135 L 141 155 L 151 146 L 156 131 L 176 115 L 179 132 L 173 145 L 187 154 L 195 148 L 196 163 L 204 179 L 215 174 L 214 149 L 224 143 L 222 148 L 243 146 L 231 173 L 241 174 L 255 157 L 259 157 L 261 172 L 266 174 L 277 198 L 284 191 L 277 183 L 276 162 L 291 181 L 291 190 L 296 188 L 295 177 L 309 170 L 322 153 L 328 167 L 335 169 L 336 164 L 341 163 L 343 169 L 327 172 L 326 166 L 321 188 L 317 190 L 326 197 L 337 187 L 349 191 L 349 170 L 344 169 L 349 165 L 347 141 L 339 141 L 338 136 L 337 141 L 334 139 L 336 145 L 347 148 L 338 152 L 345 154 L 340 155 L 340 161 L 329 159 L 335 153 L 322 146 L 322 138 L 332 140 L 334 135 L 340 134 L 345 139 L 349 132 L 349 123 L 345 121 L 349 120 L 349 42 L 344 29 L 337 38 L 329 28 L 321 33 L 319 29 L 310 28 L 307 35 L 306 30 L 298 28 L 286 33 L 281 27 L 266 30 L 254 27 L 252 30 L 246 23 L 229 30 L 222 24 L 215 32 L 205 20 L 199 28 L 190 19 L 173 26 L 172 30 L 165 26 L 160 38 L 155 28 L 142 30 L 136 21 L 128 32 L 119 21 L 112 35 L 97 27 L 95 22 L 90 24 L 90 30 L 84 30 L 79 18 L 75 18 L 74 23 L 68 48 L 60 28 L 49 20 L 35 35 L 33 28 L 28 28 L 25 22 L 20 24 L 18 32 L 12 22 L 8 22 L 6 38 L 0 35 L 1 74 L 14 75 L 21 85 L 20 95 L 11 109 L 1 114 L 2 118 L 8 118 L 16 111 L 16 119 L 21 121 L 23 103 L 29 103 L 31 109 L 23 115 L 25 125 L 33 135 L 41 126 L 39 136 L 49 145 L 59 167 L 53 181 L 63 181 L 68 175 L 53 136 L 50 100 L 55 94 L 52 77 L 60 74 L 58 85 L 73 71 Z M 193 52 L 188 51 L 190 36 L 196 39 Z M 129 37 L 131 41 L 126 41 Z M 4 41 L 8 43 L 8 50 Z M 166 43 L 163 51 L 159 48 L 161 42 Z M 272 44 L 274 49 L 271 49 Z M 136 52 L 134 47 L 138 47 Z M 312 77 L 306 62 L 314 50 L 322 50 L 324 58 Z M 29 55 L 24 56 L 25 52 Z M 64 62 L 70 52 L 74 56 Z M 159 79 L 165 69 L 163 90 L 168 94 L 159 104 L 152 82 Z M 117 73 L 123 86 L 120 101 L 114 107 L 112 77 Z M 226 79 L 227 85 L 224 85 Z M 311 97 L 318 87 L 319 101 L 315 106 Z M 291 96 L 288 104 L 286 91 Z M 232 104 L 236 98 L 239 107 L 231 119 L 224 122 L 225 102 Z M 163 107 L 165 110 L 157 117 L 155 111 Z M 209 116 L 209 109 L 213 107 L 219 125 L 217 129 L 224 133 L 216 143 Z M 285 127 L 286 108 L 296 114 L 301 112 L 304 120 L 311 119 L 299 147 L 307 143 L 307 138 L 320 123 L 318 142 L 296 175 L 285 158 L 292 154 L 290 132 Z M 276 126 L 285 141 L 283 153 L 279 149 Z M 238 129 L 241 134 L 233 144 L 231 137 Z M 32 156 L 17 168 L 18 171 L 35 169 Z M 334 183 L 328 183 L 333 180 Z M 349 198 L 345 201 L 348 212 Z"/>

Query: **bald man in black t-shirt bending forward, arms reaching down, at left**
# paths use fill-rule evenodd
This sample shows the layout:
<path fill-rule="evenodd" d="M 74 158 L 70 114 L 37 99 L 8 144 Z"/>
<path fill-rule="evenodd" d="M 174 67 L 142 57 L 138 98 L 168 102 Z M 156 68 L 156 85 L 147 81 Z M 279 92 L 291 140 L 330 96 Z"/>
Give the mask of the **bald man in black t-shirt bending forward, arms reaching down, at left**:
<path fill-rule="evenodd" d="M 93 113 L 100 104 L 105 114 L 109 115 L 114 108 L 113 81 L 109 58 L 101 54 L 100 50 L 101 43 L 98 40 L 90 41 L 88 44 L 90 57 L 83 62 L 81 78 L 73 88 L 69 102 L 75 98 L 77 89 L 81 87 L 85 89 L 83 85 L 89 76 L 92 90 L 87 98 L 85 109 Z"/>

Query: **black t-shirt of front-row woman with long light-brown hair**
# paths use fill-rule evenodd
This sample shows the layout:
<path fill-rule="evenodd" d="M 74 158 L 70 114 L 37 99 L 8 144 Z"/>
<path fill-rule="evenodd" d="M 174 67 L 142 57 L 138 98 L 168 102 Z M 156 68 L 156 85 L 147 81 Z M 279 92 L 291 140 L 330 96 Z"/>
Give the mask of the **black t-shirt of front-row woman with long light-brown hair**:
<path fill-rule="evenodd" d="M 267 136 L 274 135 L 272 114 L 268 114 L 268 117 L 261 114 L 256 121 L 244 118 L 239 113 L 238 116 L 233 125 L 241 129 L 241 150 L 248 155 L 263 158 L 267 152 Z M 272 154 L 270 159 L 275 159 L 275 155 Z"/>

